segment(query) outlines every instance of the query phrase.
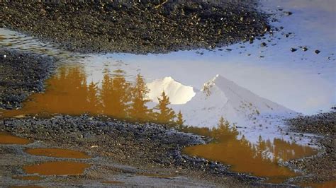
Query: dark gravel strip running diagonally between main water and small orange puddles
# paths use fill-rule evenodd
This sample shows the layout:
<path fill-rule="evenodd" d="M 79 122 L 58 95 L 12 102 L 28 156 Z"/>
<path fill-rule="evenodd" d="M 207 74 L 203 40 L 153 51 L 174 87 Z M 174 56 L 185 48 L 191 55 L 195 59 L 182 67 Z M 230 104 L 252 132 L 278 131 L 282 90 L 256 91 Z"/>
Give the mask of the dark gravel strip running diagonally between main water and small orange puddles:
<path fill-rule="evenodd" d="M 125 165 L 181 168 L 190 172 L 203 172 L 205 178 L 206 175 L 211 175 L 219 181 L 229 178 L 230 184 L 271 186 L 262 184 L 262 178 L 230 172 L 227 165 L 182 154 L 181 148 L 206 143 L 208 140 L 158 124 L 128 123 L 88 115 L 57 115 L 51 118 L 2 119 L 0 130 L 44 141 L 55 147 L 69 144 L 76 148 L 86 148 L 90 153 Z"/>

